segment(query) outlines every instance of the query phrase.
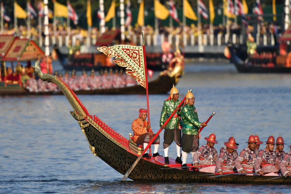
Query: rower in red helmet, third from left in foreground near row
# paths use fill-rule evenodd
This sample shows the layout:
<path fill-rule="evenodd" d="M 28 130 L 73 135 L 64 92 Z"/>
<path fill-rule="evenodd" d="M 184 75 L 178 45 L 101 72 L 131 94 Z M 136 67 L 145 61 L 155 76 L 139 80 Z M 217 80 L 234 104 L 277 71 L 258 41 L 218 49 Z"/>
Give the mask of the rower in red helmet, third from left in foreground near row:
<path fill-rule="evenodd" d="M 248 142 L 248 147 L 243 149 L 240 153 L 239 156 L 236 158 L 234 161 L 236 165 L 237 172 L 253 172 L 254 171 L 254 164 L 255 160 L 257 157 L 256 154 L 256 138 L 253 135 L 249 136 Z M 247 174 L 253 176 L 253 174 Z"/>

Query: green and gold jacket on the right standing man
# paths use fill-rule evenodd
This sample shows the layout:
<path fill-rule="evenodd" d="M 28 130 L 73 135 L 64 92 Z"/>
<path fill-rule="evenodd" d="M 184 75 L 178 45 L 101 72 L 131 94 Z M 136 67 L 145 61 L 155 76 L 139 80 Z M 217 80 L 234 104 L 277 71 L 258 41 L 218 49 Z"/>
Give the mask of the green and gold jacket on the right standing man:
<path fill-rule="evenodd" d="M 201 122 L 199 122 L 198 114 L 195 106 L 186 104 L 181 109 L 182 133 L 187 135 L 198 135 Z"/>

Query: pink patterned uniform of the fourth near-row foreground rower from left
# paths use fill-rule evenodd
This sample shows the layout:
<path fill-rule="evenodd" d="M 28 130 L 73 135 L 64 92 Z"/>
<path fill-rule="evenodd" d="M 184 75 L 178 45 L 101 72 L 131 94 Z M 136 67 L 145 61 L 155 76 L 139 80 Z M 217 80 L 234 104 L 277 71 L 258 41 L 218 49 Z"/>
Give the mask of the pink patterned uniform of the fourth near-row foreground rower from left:
<path fill-rule="evenodd" d="M 266 148 L 259 151 L 255 160 L 255 172 L 259 172 L 260 170 L 266 173 L 273 172 L 272 175 L 270 174 L 269 176 L 278 176 L 276 173 L 279 171 L 279 160 L 275 151 L 268 152 Z M 264 176 L 268 176 L 268 174 Z"/>

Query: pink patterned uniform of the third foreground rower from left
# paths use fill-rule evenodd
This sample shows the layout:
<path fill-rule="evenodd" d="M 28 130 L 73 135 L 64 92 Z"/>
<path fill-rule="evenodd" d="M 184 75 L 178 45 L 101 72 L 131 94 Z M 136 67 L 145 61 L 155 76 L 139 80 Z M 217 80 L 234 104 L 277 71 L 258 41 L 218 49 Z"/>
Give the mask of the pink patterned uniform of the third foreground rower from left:
<path fill-rule="evenodd" d="M 243 149 L 234 161 L 237 172 L 242 172 L 242 170 L 245 170 L 246 172 L 253 172 L 256 157 L 257 154 L 255 150 L 252 151 L 249 147 Z"/>

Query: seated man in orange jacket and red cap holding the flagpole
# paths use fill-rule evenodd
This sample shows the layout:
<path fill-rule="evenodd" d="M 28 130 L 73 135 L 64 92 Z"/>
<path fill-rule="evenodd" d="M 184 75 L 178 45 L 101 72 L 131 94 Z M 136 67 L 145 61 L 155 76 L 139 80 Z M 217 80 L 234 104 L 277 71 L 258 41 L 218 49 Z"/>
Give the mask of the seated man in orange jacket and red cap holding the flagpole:
<path fill-rule="evenodd" d="M 153 134 L 151 125 L 148 125 L 148 122 L 146 121 L 147 116 L 148 116 L 147 109 L 139 109 L 139 118 L 135 119 L 131 125 L 132 131 L 133 131 L 133 141 L 136 144 L 143 145 L 144 149 L 149 144 L 153 136 L 156 135 L 156 134 Z M 153 157 L 160 156 L 158 153 L 158 147 L 160 144 L 159 135 L 157 136 L 157 138 L 154 140 L 152 144 L 155 147 L 154 154 L 152 156 Z M 142 157 L 151 158 L 151 156 L 149 156 L 147 152 Z"/>

